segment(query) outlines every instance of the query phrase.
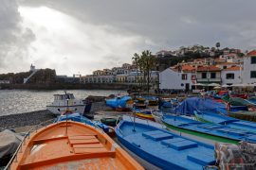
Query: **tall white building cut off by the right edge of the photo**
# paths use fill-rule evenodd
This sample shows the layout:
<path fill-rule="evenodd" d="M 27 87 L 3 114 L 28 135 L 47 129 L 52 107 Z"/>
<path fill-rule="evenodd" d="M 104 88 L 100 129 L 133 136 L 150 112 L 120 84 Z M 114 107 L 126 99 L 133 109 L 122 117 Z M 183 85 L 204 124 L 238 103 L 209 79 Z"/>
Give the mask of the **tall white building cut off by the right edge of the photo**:
<path fill-rule="evenodd" d="M 256 50 L 244 57 L 243 83 L 256 83 Z"/>

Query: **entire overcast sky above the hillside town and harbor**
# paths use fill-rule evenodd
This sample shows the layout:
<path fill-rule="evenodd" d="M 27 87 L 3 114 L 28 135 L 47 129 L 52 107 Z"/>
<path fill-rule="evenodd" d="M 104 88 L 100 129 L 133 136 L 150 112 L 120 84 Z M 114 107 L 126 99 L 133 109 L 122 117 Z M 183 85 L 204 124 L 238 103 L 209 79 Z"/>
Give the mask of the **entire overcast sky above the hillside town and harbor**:
<path fill-rule="evenodd" d="M 203 44 L 256 48 L 255 0 L 0 0 L 0 74 L 90 74 L 134 53 Z"/>

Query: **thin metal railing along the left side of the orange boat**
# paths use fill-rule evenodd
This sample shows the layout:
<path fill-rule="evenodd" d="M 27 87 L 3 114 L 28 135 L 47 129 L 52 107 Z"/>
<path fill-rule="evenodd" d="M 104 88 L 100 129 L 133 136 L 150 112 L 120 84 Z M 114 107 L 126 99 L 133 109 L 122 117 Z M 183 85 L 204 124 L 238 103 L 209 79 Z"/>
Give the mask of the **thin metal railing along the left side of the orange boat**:
<path fill-rule="evenodd" d="M 55 119 L 55 118 L 54 118 L 54 119 Z M 41 124 L 38 124 L 38 125 L 36 125 L 35 127 L 32 127 L 32 128 L 30 128 L 30 129 L 27 131 L 27 133 L 25 134 L 25 136 L 24 136 L 22 142 L 19 144 L 17 150 L 15 151 L 15 153 L 13 154 L 13 156 L 11 157 L 11 159 L 10 159 L 8 165 L 5 167 L 5 170 L 9 170 L 9 169 L 10 169 L 10 165 L 11 165 L 11 163 L 12 163 L 13 161 L 14 161 L 14 162 L 17 162 L 17 161 L 18 161 L 18 160 L 17 160 L 17 155 L 18 155 L 18 153 L 22 153 L 22 152 L 23 152 L 23 151 L 22 151 L 22 145 L 25 145 L 25 144 L 26 144 L 26 140 L 30 138 L 30 133 L 32 133 L 32 132 L 34 132 L 34 131 L 37 132 L 37 130 L 38 130 L 39 127 L 47 127 L 48 124 L 46 124 L 46 123 L 48 123 L 48 122 L 52 123 L 54 119 L 50 119 L 50 120 L 47 120 L 47 121 L 45 121 L 45 122 L 42 122 Z"/>

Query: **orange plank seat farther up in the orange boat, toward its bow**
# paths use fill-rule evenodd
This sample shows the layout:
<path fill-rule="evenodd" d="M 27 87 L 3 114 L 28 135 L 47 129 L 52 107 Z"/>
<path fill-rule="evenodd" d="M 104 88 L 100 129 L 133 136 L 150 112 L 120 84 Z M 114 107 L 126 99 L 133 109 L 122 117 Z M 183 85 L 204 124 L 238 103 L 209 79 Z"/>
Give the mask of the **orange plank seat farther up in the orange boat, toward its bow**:
<path fill-rule="evenodd" d="M 69 136 L 68 141 L 71 146 L 74 144 L 100 144 L 99 140 L 94 135 Z"/>

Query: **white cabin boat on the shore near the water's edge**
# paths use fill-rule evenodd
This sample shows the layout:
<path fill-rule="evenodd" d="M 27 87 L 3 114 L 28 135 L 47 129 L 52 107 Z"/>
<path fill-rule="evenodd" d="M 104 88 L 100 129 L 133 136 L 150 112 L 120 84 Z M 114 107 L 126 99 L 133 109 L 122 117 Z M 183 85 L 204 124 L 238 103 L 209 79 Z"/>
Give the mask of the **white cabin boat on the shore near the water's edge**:
<path fill-rule="evenodd" d="M 46 109 L 58 115 L 65 110 L 83 113 L 85 104 L 82 99 L 76 99 L 73 93 L 54 94 L 54 101 Z"/>

